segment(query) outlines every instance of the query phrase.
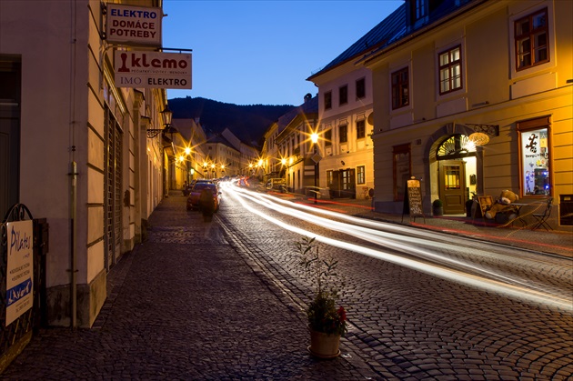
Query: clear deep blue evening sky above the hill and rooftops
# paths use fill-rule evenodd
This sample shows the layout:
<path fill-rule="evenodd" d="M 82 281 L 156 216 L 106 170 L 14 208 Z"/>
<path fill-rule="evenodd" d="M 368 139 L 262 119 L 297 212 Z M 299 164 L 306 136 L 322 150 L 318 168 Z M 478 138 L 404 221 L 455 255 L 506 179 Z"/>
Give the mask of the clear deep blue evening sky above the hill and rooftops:
<path fill-rule="evenodd" d="M 163 45 L 193 49 L 193 89 L 236 105 L 300 105 L 307 78 L 404 0 L 164 0 Z"/>

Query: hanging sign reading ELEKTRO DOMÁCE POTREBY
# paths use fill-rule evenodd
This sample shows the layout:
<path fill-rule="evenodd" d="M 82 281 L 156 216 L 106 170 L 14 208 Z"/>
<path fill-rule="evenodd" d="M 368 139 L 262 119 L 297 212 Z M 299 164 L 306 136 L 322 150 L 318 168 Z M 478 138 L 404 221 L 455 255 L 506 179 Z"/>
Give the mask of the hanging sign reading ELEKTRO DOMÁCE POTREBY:
<path fill-rule="evenodd" d="M 107 4 L 106 40 L 126 45 L 161 46 L 161 8 Z"/>

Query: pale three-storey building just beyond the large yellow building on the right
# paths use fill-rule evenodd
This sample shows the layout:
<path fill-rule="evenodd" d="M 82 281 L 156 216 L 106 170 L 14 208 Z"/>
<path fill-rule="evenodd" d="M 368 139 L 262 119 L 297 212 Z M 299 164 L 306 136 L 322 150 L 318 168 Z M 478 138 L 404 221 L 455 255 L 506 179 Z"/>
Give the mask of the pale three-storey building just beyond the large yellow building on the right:
<path fill-rule="evenodd" d="M 374 187 L 372 73 L 355 65 L 363 39 L 308 78 L 318 86 L 320 187 L 331 198 L 367 198 Z"/>

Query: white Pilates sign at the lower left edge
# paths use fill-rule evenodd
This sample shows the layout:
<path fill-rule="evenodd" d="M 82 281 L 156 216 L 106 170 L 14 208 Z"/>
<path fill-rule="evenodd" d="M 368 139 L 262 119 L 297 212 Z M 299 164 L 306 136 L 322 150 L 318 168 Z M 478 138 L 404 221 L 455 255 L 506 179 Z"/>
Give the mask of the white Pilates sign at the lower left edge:
<path fill-rule="evenodd" d="M 8 326 L 32 308 L 34 303 L 32 280 L 34 276 L 33 223 L 8 222 L 6 261 L 6 321 Z"/>

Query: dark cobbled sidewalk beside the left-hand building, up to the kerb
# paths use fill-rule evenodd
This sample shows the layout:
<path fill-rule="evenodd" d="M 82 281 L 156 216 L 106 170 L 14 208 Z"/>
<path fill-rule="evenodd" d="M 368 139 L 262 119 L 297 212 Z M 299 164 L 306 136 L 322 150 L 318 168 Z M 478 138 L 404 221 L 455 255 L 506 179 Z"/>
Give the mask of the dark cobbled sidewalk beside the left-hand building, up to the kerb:
<path fill-rule="evenodd" d="M 148 241 L 108 275 L 91 329 L 41 329 L 3 380 L 359 379 L 366 367 L 307 352 L 306 316 L 281 300 L 180 193 L 149 219 Z"/>

